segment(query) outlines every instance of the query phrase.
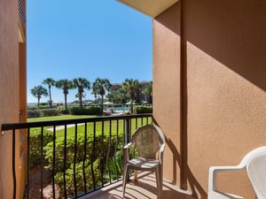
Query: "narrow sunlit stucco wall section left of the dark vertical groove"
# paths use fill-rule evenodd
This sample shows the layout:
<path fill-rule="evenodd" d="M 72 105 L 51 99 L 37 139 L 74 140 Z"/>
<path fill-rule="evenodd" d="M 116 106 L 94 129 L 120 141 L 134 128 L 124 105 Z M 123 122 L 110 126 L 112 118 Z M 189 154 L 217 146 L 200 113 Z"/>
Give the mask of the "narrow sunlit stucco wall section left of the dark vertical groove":
<path fill-rule="evenodd" d="M 175 11 L 179 11 L 178 5 Z M 164 175 L 179 185 L 180 36 L 176 32 L 179 33 L 180 26 L 175 12 L 169 11 L 166 15 L 153 20 L 153 115 L 163 131 L 168 132 Z"/>

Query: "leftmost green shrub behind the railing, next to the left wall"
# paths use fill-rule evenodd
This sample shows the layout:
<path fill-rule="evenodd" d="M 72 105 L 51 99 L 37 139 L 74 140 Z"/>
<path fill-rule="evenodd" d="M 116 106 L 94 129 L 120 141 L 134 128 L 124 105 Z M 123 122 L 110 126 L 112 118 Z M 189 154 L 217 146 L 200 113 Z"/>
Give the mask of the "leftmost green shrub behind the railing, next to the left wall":
<path fill-rule="evenodd" d="M 43 130 L 43 147 L 53 140 L 51 132 Z M 29 167 L 33 168 L 41 164 L 42 134 L 40 128 L 33 128 L 29 138 Z M 43 156 L 44 160 L 44 156 Z"/>

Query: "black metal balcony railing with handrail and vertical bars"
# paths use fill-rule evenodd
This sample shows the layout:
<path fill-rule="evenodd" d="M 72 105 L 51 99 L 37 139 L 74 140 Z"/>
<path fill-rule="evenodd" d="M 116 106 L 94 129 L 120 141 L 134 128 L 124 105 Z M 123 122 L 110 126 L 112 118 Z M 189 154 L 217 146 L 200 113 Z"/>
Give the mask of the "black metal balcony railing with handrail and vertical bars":
<path fill-rule="evenodd" d="M 94 141 L 93 141 L 93 147 L 95 146 L 95 136 L 96 136 L 96 123 L 98 122 L 101 122 L 101 142 L 103 142 L 103 136 L 104 136 L 104 124 L 106 123 L 106 121 L 110 121 L 110 125 L 112 124 L 112 121 L 113 123 L 116 122 L 116 135 L 117 137 L 115 138 L 116 139 L 116 145 L 115 147 L 117 148 L 117 144 L 118 144 L 118 128 L 119 128 L 119 120 L 123 120 L 123 134 L 122 134 L 122 144 L 127 144 L 129 142 L 129 139 L 130 139 L 130 132 L 131 132 L 131 120 L 132 119 L 136 119 L 136 126 L 135 128 L 137 128 L 137 119 L 141 119 L 141 122 L 138 123 L 140 125 L 145 125 L 145 124 L 148 124 L 148 118 L 151 118 L 152 120 L 150 120 L 150 122 L 153 122 L 153 114 L 152 113 L 145 113 L 145 114 L 129 114 L 129 115 L 111 115 L 111 116 L 101 116 L 101 117 L 93 117 L 93 118 L 85 118 L 85 119 L 61 119 L 61 120 L 49 120 L 49 121 L 36 121 L 36 122 L 20 122 L 20 123 L 6 123 L 6 124 L 2 124 L 1 125 L 1 131 L 2 131 L 2 135 L 4 135 L 4 131 L 11 131 L 11 132 L 8 132 L 9 133 L 12 133 L 12 177 L 13 177 L 13 199 L 16 198 L 16 195 L 17 195 L 17 179 L 16 179 L 16 154 L 15 154 L 15 149 L 16 149 L 16 134 L 21 132 L 21 131 L 17 131 L 19 129 L 27 129 L 27 152 L 28 152 L 28 155 L 27 155 L 27 180 L 29 180 L 29 151 L 30 151 L 30 147 L 29 147 L 29 143 L 30 143 L 30 129 L 31 128 L 39 128 L 41 130 L 40 134 L 41 134 L 41 152 L 40 152 L 40 156 L 41 156 L 41 165 L 42 165 L 42 169 L 41 169 L 41 198 L 43 198 L 43 130 L 46 129 L 46 127 L 50 127 L 50 126 L 53 126 L 53 130 L 51 130 L 51 134 L 53 134 L 53 152 L 52 152 L 52 172 L 55 171 L 55 160 L 56 160 L 56 127 L 57 126 L 64 126 L 64 129 L 65 129 L 65 134 L 64 134 L 64 137 L 65 137 L 65 156 L 64 156 L 64 164 L 66 164 L 66 129 L 68 127 L 68 125 L 74 125 L 74 139 L 75 139 L 75 142 L 74 142 L 74 168 L 73 168 L 73 172 L 74 172 L 74 198 L 78 198 L 80 197 L 80 194 L 77 192 L 77 187 L 76 187 L 76 181 L 75 181 L 75 164 L 77 164 L 76 161 L 76 154 L 77 154 L 77 135 L 78 135 L 78 130 L 77 130 L 77 127 L 79 126 L 79 124 L 84 124 L 84 136 L 85 136 L 85 140 L 87 138 L 87 125 L 89 125 L 89 123 L 92 123 L 94 124 L 93 125 L 93 136 L 94 136 Z M 145 119 L 145 120 L 144 120 Z M 134 127 L 133 127 L 134 128 Z M 110 126 L 109 128 L 109 136 L 111 136 L 111 129 L 112 127 Z M 132 133 L 132 132 L 131 132 Z M 106 161 L 106 164 L 108 166 L 108 173 L 109 173 L 109 183 L 111 184 L 112 183 L 112 178 L 111 178 L 111 172 L 109 170 L 109 165 L 108 165 L 108 159 L 109 159 L 109 154 L 110 154 L 110 142 L 111 142 L 111 137 L 109 137 L 109 140 L 108 140 L 108 149 L 107 149 L 107 159 L 105 160 Z M 84 154 L 83 154 L 83 179 L 85 179 L 85 159 L 86 159 L 86 143 L 84 143 Z M 115 149 L 115 151 L 117 151 Z M 103 151 L 102 151 L 103 152 Z M 103 154 L 100 154 L 100 158 L 104 157 Z M 116 152 L 115 152 L 116 153 Z M 113 161 L 114 158 L 116 157 L 113 157 Z M 92 157 L 90 157 L 90 160 L 92 160 Z M 101 159 L 102 161 L 102 159 Z M 104 162 L 101 162 L 101 164 L 104 164 Z M 104 169 L 104 167 L 101 167 Z M 91 165 L 91 171 L 93 172 L 93 164 Z M 64 173 L 66 172 L 66 168 L 64 167 Z M 101 170 L 100 171 L 100 174 L 101 174 L 101 182 L 102 182 L 102 185 L 100 186 L 101 188 L 105 187 L 106 185 L 104 184 L 104 170 Z M 94 176 L 94 175 L 93 175 Z M 52 179 L 52 195 L 53 195 L 53 198 L 55 198 L 55 176 L 54 174 L 52 175 L 51 177 Z M 118 178 L 118 174 L 116 172 L 116 178 Z M 64 174 L 64 181 L 65 181 L 65 174 Z M 87 189 L 87 183 L 85 182 L 86 179 L 84 180 L 84 193 L 82 195 L 87 195 L 87 194 L 90 194 L 90 192 L 92 191 L 95 191 L 97 190 L 98 188 L 96 188 L 96 184 L 95 184 L 95 181 L 93 180 L 93 188 L 90 190 L 90 189 Z M 27 188 L 25 189 L 25 194 L 27 195 L 27 198 L 29 197 L 29 181 L 27 181 Z M 100 188 L 99 187 L 99 188 Z M 66 183 L 64 182 L 64 195 L 66 197 Z M 89 188 L 89 187 L 88 187 Z"/>

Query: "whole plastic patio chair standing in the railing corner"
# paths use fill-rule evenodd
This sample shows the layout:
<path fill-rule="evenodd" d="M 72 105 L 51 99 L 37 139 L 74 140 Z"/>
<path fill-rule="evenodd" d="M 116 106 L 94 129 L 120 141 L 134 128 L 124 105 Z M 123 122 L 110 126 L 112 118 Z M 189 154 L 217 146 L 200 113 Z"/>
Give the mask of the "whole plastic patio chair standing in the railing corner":
<path fill-rule="evenodd" d="M 135 148 L 131 147 L 134 146 Z M 129 148 L 137 149 L 138 157 L 129 159 Z M 161 197 L 162 192 L 162 163 L 163 151 L 165 148 L 165 137 L 159 126 L 145 125 L 137 128 L 132 135 L 131 142 L 123 148 L 124 169 L 122 196 L 125 195 L 129 171 L 152 171 L 156 174 L 157 198 Z"/>

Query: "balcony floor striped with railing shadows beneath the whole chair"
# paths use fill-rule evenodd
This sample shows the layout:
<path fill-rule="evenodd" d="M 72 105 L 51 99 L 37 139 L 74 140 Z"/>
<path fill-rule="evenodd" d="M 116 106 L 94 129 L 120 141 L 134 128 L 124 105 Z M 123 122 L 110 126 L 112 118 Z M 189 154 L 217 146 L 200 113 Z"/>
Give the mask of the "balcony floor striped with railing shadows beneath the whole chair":
<path fill-rule="evenodd" d="M 131 180 L 132 179 L 132 180 Z M 82 199 L 121 199 L 122 186 L 121 181 L 114 183 L 111 186 L 102 188 L 89 195 L 85 195 Z M 136 183 L 133 181 L 133 177 L 130 178 L 130 182 L 126 187 L 126 194 L 124 198 L 127 199 L 152 199 L 157 198 L 156 179 L 154 173 L 141 172 L 138 173 L 138 180 Z M 192 195 L 183 190 L 176 188 L 163 181 L 162 199 L 194 199 Z"/>

